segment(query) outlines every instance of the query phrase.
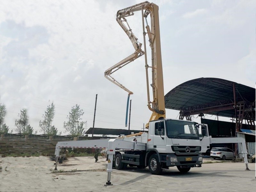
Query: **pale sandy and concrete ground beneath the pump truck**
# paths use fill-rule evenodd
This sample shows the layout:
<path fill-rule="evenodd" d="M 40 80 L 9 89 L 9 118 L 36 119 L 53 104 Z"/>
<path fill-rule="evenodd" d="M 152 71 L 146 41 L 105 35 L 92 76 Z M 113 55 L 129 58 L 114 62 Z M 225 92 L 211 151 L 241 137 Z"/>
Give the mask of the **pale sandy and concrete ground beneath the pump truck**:
<path fill-rule="evenodd" d="M 245 171 L 244 163 L 203 164 L 187 174 L 175 167 L 152 175 L 148 168 L 139 170 L 115 170 L 111 174 L 113 186 L 104 186 L 107 181 L 107 161 L 94 157 L 68 158 L 58 164 L 49 157 L 4 157 L 0 158 L 0 191 L 8 192 L 84 192 L 84 191 L 252 191 L 256 188 L 255 164 Z M 204 159 L 204 161 L 212 161 Z M 218 160 L 217 160 L 218 161 Z"/>

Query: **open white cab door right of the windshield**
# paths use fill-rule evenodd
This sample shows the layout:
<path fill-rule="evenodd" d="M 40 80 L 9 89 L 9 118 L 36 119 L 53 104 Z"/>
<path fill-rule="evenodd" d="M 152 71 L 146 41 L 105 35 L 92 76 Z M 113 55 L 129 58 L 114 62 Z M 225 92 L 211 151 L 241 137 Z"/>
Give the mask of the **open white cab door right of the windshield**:
<path fill-rule="evenodd" d="M 200 138 L 201 151 L 200 153 L 205 153 L 207 149 L 210 149 L 210 137 L 208 132 L 207 124 L 198 124 L 198 132 Z"/>

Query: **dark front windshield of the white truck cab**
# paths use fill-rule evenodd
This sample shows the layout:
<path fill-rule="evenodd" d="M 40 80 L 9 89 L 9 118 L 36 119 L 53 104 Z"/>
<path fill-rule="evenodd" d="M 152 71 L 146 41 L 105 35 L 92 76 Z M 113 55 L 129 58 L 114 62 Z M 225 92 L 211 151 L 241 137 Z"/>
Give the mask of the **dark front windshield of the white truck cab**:
<path fill-rule="evenodd" d="M 194 122 L 166 120 L 166 124 L 168 138 L 199 140 L 198 130 Z"/>

